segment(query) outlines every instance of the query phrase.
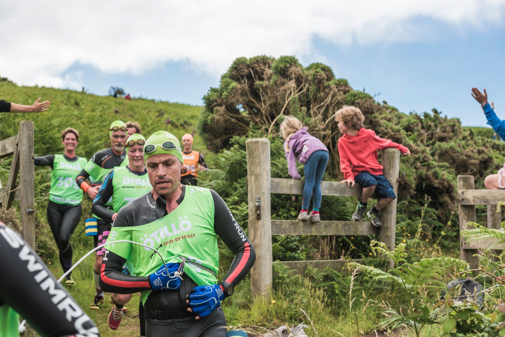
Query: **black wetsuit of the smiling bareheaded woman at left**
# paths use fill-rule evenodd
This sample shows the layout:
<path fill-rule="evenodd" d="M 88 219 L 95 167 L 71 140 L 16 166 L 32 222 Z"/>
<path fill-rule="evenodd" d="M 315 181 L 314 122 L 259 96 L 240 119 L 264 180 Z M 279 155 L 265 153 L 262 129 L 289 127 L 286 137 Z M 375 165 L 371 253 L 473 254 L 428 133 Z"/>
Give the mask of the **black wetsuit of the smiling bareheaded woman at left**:
<path fill-rule="evenodd" d="M 73 158 L 63 155 L 67 161 L 75 162 L 79 159 L 78 156 Z M 48 154 L 42 157 L 34 157 L 35 165 L 37 166 L 51 166 L 55 161 L 54 154 Z M 47 203 L 47 222 L 58 246 L 60 252 L 60 263 L 63 271 L 67 271 L 72 266 L 72 245 L 70 238 L 74 233 L 75 228 L 79 224 L 82 215 L 81 204 L 78 205 L 65 205 L 59 204 L 49 200 Z"/>

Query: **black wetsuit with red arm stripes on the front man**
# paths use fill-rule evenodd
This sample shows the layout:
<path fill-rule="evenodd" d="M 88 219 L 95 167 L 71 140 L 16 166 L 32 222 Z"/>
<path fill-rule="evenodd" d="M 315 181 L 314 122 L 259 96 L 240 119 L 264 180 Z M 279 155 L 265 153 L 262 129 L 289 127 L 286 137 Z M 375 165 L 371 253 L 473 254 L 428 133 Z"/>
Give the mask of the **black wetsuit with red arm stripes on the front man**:
<path fill-rule="evenodd" d="M 180 204 L 185 197 L 186 186 L 182 187 L 182 195 L 177 200 Z M 256 253 L 249 239 L 233 218 L 226 203 L 213 190 L 210 190 L 214 201 L 214 231 L 217 236 L 233 252 L 234 259 L 224 280 L 236 286 L 247 274 L 256 260 Z M 176 208 L 177 209 L 177 208 Z M 167 215 L 166 200 L 159 196 L 156 200 L 151 193 L 135 199 L 123 207 L 116 216 L 114 228 L 142 226 Z M 106 292 L 116 294 L 131 294 L 149 290 L 148 276 L 132 276 L 122 273 L 126 259 L 106 251 L 100 286 Z M 184 273 L 180 288 L 173 291 L 153 291 L 147 297 L 144 307 L 146 310 L 146 336 L 176 335 L 178 336 L 212 336 L 219 337 L 226 334 L 226 325 L 222 309 L 218 307 L 209 316 L 195 320 L 193 313 L 187 311 L 186 296 L 197 284 Z M 147 287 L 139 287 L 146 285 Z M 149 318 L 158 312 L 170 311 L 172 319 Z"/>

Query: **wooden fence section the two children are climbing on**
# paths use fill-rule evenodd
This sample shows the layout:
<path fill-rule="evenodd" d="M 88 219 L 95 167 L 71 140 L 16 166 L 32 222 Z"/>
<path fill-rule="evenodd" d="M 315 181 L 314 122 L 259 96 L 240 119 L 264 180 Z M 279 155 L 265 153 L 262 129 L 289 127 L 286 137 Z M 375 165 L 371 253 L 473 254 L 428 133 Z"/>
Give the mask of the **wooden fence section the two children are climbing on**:
<path fill-rule="evenodd" d="M 271 178 L 270 141 L 253 138 L 245 142 L 247 152 L 247 194 L 249 206 L 249 239 L 256 250 L 256 263 L 251 269 L 251 290 L 253 295 L 268 296 L 272 287 L 272 263 L 282 263 L 299 273 L 305 272 L 307 265 L 316 268 L 330 267 L 341 270 L 350 260 L 313 260 L 273 262 L 272 235 L 379 235 L 379 240 L 394 249 L 396 229 L 396 200 L 381 212 L 382 227 L 374 227 L 370 221 L 310 221 L 271 219 L 270 194 L 301 195 L 304 183 L 300 180 Z M 399 151 L 385 149 L 382 153 L 384 176 L 391 182 L 394 192 L 398 190 Z M 348 187 L 345 183 L 321 182 L 323 195 L 360 197 L 362 188 L 356 184 Z M 373 197 L 373 196 L 372 196 Z M 338 207 L 335 205 L 335 207 Z M 360 260 L 352 260 L 360 261 Z M 392 267 L 392 261 L 388 261 Z"/>

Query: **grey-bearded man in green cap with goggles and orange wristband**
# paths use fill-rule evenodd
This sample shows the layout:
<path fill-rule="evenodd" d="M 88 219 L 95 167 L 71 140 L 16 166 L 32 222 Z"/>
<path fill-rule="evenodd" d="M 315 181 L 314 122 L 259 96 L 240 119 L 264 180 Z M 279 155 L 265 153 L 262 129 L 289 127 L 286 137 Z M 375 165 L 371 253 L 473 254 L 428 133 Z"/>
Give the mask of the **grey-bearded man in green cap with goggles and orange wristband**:
<path fill-rule="evenodd" d="M 109 127 L 109 138 L 111 141 L 111 147 L 102 151 L 96 152 L 91 159 L 86 163 L 83 170 L 77 175 L 77 185 L 88 194 L 91 200 L 94 200 L 96 193 L 102 185 L 104 177 L 116 166 L 125 166 L 128 164 L 128 156 L 125 151 L 126 144 L 126 124 L 121 121 L 112 122 Z M 89 179 L 91 186 L 86 183 L 86 179 Z M 106 201 L 105 207 L 112 209 L 112 200 L 110 202 Z M 109 235 L 111 228 L 110 219 L 102 219 L 100 216 L 93 214 L 91 218 L 96 219 L 96 232 L 90 233 L 94 234 L 93 244 L 98 246 L 104 243 L 104 235 Z M 89 221 L 89 219 L 88 219 Z M 86 235 L 88 235 L 86 233 Z M 94 270 L 94 280 L 95 280 L 95 295 L 93 303 L 91 304 L 91 309 L 100 309 L 104 303 L 104 293 L 98 284 L 100 278 L 100 265 L 102 265 L 103 253 L 102 251 L 97 251 L 95 255 Z"/>

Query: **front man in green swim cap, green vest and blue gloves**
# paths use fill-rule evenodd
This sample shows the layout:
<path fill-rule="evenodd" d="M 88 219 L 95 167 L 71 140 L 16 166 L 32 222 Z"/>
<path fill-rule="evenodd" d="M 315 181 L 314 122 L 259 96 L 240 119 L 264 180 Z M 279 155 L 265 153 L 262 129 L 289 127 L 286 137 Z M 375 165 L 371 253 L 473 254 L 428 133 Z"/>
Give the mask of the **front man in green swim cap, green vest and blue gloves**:
<path fill-rule="evenodd" d="M 143 153 L 153 189 L 117 214 L 100 286 L 116 294 L 141 293 L 147 336 L 224 337 L 221 301 L 252 267 L 255 251 L 215 191 L 180 183 L 183 158 L 176 137 L 157 131 Z M 235 255 L 220 282 L 218 236 Z M 125 239 L 147 247 L 115 243 Z M 122 273 L 123 265 L 131 275 Z"/>

